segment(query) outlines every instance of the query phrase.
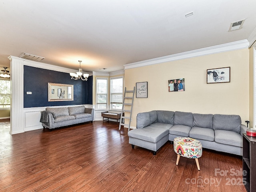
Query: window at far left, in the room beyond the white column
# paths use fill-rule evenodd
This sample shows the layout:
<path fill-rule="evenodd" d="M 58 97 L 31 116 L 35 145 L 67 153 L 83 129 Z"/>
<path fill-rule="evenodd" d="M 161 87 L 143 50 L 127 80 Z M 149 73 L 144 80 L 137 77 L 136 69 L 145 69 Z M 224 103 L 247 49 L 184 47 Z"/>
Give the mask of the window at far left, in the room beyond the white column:
<path fill-rule="evenodd" d="M 0 80 L 0 108 L 10 108 L 10 80 Z"/>

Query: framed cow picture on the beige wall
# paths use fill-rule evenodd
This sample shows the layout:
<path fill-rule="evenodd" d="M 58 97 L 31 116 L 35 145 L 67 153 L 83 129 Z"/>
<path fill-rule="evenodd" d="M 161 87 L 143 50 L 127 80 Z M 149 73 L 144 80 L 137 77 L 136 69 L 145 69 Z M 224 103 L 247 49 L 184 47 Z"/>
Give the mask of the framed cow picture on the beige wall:
<path fill-rule="evenodd" d="M 230 67 L 207 70 L 207 83 L 230 82 Z"/>

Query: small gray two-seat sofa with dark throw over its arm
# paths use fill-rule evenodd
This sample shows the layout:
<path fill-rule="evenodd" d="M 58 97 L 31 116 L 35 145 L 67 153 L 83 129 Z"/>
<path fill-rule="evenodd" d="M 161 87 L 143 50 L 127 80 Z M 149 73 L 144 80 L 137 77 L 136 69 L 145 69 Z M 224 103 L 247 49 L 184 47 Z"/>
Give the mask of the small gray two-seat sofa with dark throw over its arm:
<path fill-rule="evenodd" d="M 50 130 L 78 123 L 92 122 L 94 117 L 93 108 L 85 108 L 84 106 L 74 107 L 47 107 L 41 112 L 40 122 L 43 128 Z"/>

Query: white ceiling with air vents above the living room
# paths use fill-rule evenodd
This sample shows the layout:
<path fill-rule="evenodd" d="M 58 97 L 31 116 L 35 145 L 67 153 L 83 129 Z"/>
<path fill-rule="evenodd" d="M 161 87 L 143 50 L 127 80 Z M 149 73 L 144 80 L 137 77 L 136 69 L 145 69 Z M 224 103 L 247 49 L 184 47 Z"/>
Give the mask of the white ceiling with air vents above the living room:
<path fill-rule="evenodd" d="M 122 70 L 132 62 L 250 39 L 255 8 L 256 0 L 0 0 L 0 66 L 24 52 L 72 69 L 82 60 L 86 72 Z M 189 12 L 194 15 L 185 17 Z M 242 29 L 228 32 L 242 19 Z"/>

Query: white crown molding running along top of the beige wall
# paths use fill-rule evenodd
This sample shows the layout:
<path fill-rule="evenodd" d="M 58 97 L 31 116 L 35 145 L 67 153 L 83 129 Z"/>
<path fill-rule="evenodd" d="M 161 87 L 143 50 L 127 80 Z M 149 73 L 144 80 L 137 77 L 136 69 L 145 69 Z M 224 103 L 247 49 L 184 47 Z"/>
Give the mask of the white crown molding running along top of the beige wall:
<path fill-rule="evenodd" d="M 170 61 L 205 56 L 205 55 L 210 55 L 210 54 L 234 51 L 234 50 L 244 49 L 244 48 L 248 48 L 248 47 L 249 47 L 248 40 L 240 40 L 240 41 L 236 41 L 236 42 L 231 42 L 231 43 L 211 46 L 211 47 L 207 47 L 207 48 L 192 50 L 192 51 L 188 51 L 188 52 L 153 58 L 153 59 L 134 62 L 134 63 L 130 63 L 130 64 L 125 64 L 124 69 L 126 70 L 126 69 L 130 69 L 130 68 L 154 65 L 154 64 L 163 63 L 163 62 L 170 62 Z"/>

